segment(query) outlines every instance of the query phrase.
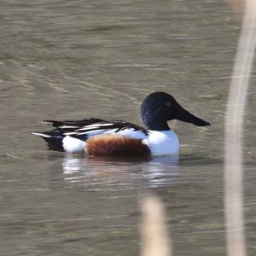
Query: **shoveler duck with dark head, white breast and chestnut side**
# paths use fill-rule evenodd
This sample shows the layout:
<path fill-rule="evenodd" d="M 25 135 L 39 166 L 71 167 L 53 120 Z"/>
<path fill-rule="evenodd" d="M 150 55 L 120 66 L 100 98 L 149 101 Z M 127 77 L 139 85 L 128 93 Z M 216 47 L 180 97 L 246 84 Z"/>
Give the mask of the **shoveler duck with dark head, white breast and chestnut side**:
<path fill-rule="evenodd" d="M 196 126 L 210 125 L 162 91 L 153 92 L 144 99 L 140 116 L 146 127 L 118 119 L 44 120 L 44 124 L 54 129 L 32 131 L 32 134 L 42 137 L 48 148 L 56 151 L 85 152 L 93 156 L 152 157 L 178 154 L 179 139 L 168 121 L 177 119 Z"/>

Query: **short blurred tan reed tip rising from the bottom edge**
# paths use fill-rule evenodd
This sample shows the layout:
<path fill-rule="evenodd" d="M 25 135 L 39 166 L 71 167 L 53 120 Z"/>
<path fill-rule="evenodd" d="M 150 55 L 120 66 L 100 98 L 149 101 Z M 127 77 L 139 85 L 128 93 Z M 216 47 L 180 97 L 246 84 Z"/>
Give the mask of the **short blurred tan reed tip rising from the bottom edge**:
<path fill-rule="evenodd" d="M 142 201 L 143 247 L 141 256 L 172 256 L 172 247 L 168 242 L 165 210 L 156 196 L 145 197 Z"/>

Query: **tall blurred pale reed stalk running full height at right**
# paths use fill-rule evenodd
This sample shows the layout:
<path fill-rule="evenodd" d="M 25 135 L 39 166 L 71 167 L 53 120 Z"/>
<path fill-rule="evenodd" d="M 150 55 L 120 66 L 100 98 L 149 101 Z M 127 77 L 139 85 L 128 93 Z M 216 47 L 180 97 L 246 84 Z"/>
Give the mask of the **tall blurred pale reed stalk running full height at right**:
<path fill-rule="evenodd" d="M 237 0 L 235 2 L 237 4 Z M 246 255 L 242 211 L 242 124 L 255 44 L 256 0 L 247 0 L 225 114 L 224 205 L 228 256 Z"/>

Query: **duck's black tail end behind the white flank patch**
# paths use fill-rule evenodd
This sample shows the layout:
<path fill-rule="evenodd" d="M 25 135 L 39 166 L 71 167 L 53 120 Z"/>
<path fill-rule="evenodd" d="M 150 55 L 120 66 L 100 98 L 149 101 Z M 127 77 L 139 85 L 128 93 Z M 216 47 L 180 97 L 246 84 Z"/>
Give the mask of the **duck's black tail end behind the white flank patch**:
<path fill-rule="evenodd" d="M 40 136 L 47 143 L 47 146 L 51 150 L 64 151 L 62 140 L 64 138 L 61 131 L 43 131 L 43 132 L 32 132 L 32 134 Z"/>

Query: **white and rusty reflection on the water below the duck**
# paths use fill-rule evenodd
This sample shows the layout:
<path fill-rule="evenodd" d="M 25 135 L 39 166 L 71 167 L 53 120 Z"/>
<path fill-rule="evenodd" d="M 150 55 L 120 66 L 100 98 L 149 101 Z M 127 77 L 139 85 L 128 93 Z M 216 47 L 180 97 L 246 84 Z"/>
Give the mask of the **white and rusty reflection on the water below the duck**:
<path fill-rule="evenodd" d="M 86 158 L 66 154 L 62 161 L 62 169 L 67 183 L 122 183 L 131 187 L 131 180 L 149 183 L 151 187 L 159 187 L 175 183 L 177 179 L 179 157 L 177 154 L 168 157 L 157 157 L 149 161 L 109 160 L 102 158 Z M 129 177 L 127 177 L 129 175 Z"/>

